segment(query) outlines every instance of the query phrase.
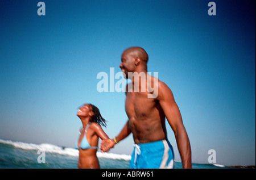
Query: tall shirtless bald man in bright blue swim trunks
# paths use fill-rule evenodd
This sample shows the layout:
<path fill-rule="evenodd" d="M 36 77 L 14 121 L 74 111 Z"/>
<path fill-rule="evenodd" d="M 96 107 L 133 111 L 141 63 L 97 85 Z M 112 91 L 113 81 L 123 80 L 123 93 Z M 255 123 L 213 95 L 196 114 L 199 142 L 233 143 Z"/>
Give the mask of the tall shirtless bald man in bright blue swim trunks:
<path fill-rule="evenodd" d="M 126 49 L 121 60 L 119 67 L 124 77 L 132 81 L 126 86 L 125 110 L 129 120 L 117 137 L 101 142 L 101 150 L 108 151 L 133 133 L 135 145 L 130 168 L 173 168 L 166 118 L 174 131 L 183 168 L 191 168 L 191 146 L 171 89 L 147 73 L 148 55 L 143 48 Z"/>

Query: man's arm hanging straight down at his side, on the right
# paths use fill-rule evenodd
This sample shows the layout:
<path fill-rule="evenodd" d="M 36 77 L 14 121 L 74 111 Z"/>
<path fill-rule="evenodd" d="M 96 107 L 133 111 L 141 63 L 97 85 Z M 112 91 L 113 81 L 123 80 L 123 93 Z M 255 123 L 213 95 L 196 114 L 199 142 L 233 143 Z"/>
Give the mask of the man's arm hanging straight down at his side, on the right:
<path fill-rule="evenodd" d="M 191 146 L 182 122 L 179 107 L 174 100 L 174 95 L 172 94 L 171 89 L 164 82 L 160 81 L 158 83 L 158 100 L 166 115 L 168 123 L 174 131 L 183 168 L 192 168 Z"/>

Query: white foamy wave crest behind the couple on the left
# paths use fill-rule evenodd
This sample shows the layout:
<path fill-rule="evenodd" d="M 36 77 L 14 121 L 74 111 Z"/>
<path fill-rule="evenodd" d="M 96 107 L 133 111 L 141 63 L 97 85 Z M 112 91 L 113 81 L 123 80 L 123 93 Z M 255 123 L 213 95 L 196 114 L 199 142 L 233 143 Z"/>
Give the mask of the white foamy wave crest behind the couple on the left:
<path fill-rule="evenodd" d="M 61 147 L 53 144 L 33 144 L 33 143 L 23 143 L 19 141 L 10 141 L 10 140 L 2 140 L 0 139 L 0 143 L 2 144 L 10 144 L 15 148 L 26 149 L 26 150 L 41 150 L 46 153 L 57 153 L 61 155 L 67 156 L 79 156 L 79 150 L 67 147 Z M 114 154 L 114 153 L 101 153 L 97 152 L 97 156 L 99 158 L 109 158 L 114 160 L 126 160 L 129 161 L 131 156 L 126 154 Z"/>

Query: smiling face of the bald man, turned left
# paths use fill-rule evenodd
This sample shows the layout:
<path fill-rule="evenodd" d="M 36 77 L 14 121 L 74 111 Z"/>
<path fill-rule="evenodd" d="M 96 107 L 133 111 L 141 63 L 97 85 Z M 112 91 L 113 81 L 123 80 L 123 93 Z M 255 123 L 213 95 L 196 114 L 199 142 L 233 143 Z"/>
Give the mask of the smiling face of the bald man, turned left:
<path fill-rule="evenodd" d="M 135 58 L 131 56 L 131 53 L 129 52 L 123 52 L 121 56 L 121 64 L 119 65 L 119 68 L 121 68 L 124 78 L 128 78 L 128 73 L 133 73 L 135 70 Z"/>

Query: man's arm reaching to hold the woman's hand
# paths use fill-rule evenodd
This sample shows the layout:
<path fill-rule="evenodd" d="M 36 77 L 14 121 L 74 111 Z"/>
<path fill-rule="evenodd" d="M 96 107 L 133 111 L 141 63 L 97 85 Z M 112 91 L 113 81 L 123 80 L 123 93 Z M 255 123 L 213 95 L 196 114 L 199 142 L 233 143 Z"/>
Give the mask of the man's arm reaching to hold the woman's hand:
<path fill-rule="evenodd" d="M 122 131 L 119 133 L 117 137 L 115 137 L 115 140 L 102 140 L 101 141 L 101 150 L 102 152 L 108 151 L 110 148 L 113 148 L 115 144 L 117 144 L 119 141 L 125 139 L 127 136 L 129 136 L 131 133 L 129 120 L 127 120 L 127 123 L 123 127 Z"/>

